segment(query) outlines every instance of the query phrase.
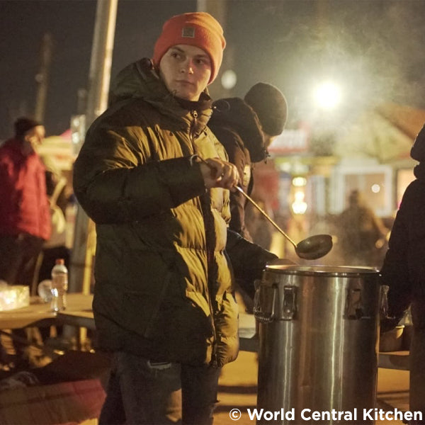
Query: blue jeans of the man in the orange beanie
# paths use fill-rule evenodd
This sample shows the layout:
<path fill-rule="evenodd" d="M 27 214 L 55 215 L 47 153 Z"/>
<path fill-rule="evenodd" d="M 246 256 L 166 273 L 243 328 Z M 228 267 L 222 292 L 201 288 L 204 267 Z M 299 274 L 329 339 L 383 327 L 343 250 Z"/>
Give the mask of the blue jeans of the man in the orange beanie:
<path fill-rule="evenodd" d="M 220 369 L 114 354 L 99 425 L 210 425 Z"/>

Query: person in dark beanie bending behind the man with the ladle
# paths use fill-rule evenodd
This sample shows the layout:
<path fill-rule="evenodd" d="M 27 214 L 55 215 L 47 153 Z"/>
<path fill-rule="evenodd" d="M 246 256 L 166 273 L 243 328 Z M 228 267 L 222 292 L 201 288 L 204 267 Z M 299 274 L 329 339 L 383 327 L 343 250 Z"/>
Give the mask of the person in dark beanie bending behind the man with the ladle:
<path fill-rule="evenodd" d="M 268 157 L 267 147 L 285 127 L 285 96 L 271 84 L 258 83 L 251 87 L 244 100 L 223 98 L 214 106 L 208 127 L 225 147 L 229 162 L 237 166 L 240 186 L 250 194 L 254 186 L 252 164 Z M 244 220 L 245 205 L 242 193 L 231 193 L 229 227 L 251 241 Z"/>

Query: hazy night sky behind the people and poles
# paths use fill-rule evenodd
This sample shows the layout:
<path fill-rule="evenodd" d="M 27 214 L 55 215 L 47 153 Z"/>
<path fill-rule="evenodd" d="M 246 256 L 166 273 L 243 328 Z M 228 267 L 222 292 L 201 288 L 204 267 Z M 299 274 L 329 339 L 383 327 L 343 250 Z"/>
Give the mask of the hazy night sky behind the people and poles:
<path fill-rule="evenodd" d="M 111 77 L 151 56 L 162 23 L 186 11 L 196 11 L 196 1 L 119 0 Z M 18 115 L 34 111 L 46 32 L 54 40 L 47 135 L 69 128 L 88 80 L 95 12 L 94 0 L 0 0 L 0 140 Z M 320 79 L 344 87 L 345 120 L 385 101 L 425 108 L 424 17 L 425 0 L 228 1 L 222 70 L 234 69 L 238 80 L 225 94 L 275 84 L 288 98 L 289 126 L 312 115 L 312 85 Z M 223 93 L 219 79 L 211 91 Z"/>

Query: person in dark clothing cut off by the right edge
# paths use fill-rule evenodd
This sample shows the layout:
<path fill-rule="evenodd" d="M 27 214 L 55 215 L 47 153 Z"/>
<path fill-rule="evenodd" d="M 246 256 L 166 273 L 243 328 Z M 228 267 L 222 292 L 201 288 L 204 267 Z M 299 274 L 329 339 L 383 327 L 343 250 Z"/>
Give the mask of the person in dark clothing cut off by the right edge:
<path fill-rule="evenodd" d="M 410 411 L 421 412 L 423 418 L 412 425 L 425 424 L 425 125 L 410 155 L 419 161 L 416 179 L 404 191 L 381 269 L 382 284 L 390 287 L 388 316 L 394 319 L 382 322 L 381 329 L 394 327 L 412 305 Z"/>

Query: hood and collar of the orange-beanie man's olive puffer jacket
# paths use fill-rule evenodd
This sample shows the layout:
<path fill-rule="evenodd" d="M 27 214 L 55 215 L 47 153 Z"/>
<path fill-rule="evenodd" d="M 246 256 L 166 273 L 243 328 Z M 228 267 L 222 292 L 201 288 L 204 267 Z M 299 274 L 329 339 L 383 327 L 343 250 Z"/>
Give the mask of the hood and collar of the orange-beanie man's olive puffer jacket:
<path fill-rule="evenodd" d="M 109 106 L 120 101 L 131 99 L 143 99 L 154 108 L 159 109 L 164 115 L 185 117 L 188 115 L 188 107 L 183 107 L 184 101 L 173 96 L 166 88 L 159 74 L 154 69 L 152 60 L 145 57 L 128 65 L 111 81 L 109 92 Z M 200 95 L 198 102 L 188 102 L 193 105 L 193 110 L 198 112 L 198 125 L 196 132 L 205 128 L 212 114 L 212 100 L 205 91 Z"/>

